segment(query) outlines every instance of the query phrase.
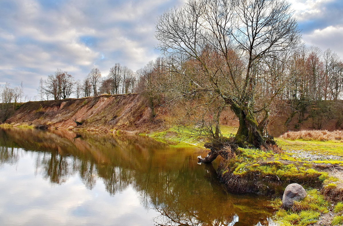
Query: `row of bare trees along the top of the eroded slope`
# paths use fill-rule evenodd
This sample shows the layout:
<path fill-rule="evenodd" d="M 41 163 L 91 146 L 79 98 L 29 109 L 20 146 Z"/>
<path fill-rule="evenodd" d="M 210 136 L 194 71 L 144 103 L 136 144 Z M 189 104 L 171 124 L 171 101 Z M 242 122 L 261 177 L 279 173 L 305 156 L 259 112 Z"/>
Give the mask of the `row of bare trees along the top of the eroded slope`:
<path fill-rule="evenodd" d="M 93 68 L 83 80 L 75 80 L 67 71 L 57 69 L 47 79 L 40 79 L 38 98 L 66 99 L 98 96 L 99 94 L 125 94 L 136 90 L 137 75 L 130 68 L 115 63 L 107 76 L 102 76 L 98 68 Z"/>

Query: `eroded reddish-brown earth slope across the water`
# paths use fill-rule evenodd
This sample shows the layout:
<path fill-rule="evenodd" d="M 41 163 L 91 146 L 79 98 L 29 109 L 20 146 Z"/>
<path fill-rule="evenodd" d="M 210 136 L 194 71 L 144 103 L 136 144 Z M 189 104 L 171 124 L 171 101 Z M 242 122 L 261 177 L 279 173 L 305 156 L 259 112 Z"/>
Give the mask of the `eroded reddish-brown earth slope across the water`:
<path fill-rule="evenodd" d="M 76 126 L 75 120 L 82 125 Z M 139 94 L 26 102 L 5 123 L 127 133 L 148 133 L 156 126 L 149 102 Z"/>

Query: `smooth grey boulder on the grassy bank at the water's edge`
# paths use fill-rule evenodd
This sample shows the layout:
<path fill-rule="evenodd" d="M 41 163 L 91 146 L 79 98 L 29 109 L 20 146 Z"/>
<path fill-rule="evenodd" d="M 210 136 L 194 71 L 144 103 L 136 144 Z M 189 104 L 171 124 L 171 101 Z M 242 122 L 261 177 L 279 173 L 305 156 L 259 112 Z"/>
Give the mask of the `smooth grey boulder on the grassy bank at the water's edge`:
<path fill-rule="evenodd" d="M 291 183 L 290 185 L 287 185 L 282 197 L 283 209 L 291 209 L 294 201 L 303 200 L 306 197 L 306 195 L 307 194 L 303 186 L 297 183 Z"/>

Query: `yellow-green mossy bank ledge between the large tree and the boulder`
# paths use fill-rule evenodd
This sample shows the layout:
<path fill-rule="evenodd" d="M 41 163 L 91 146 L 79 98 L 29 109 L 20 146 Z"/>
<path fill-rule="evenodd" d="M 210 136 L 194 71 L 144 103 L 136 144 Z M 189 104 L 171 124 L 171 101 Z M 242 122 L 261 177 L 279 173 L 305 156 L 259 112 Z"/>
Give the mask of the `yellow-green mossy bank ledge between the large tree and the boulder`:
<path fill-rule="evenodd" d="M 285 156 L 271 151 L 238 148 L 234 159 L 222 163 L 221 175 L 230 191 L 238 189 L 245 192 L 246 189 L 255 193 L 268 191 L 268 194 L 282 193 L 289 183 L 294 182 L 319 188 L 329 178 L 327 173 L 312 169 L 309 164 L 305 167 L 301 163 L 286 163 L 281 160 Z"/>

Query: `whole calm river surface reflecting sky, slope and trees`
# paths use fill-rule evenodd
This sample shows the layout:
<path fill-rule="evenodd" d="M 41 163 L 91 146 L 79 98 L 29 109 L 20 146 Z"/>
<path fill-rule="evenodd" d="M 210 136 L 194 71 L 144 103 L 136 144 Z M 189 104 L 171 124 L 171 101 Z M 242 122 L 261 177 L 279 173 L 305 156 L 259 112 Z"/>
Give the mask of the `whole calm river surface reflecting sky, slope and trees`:
<path fill-rule="evenodd" d="M 228 194 L 199 149 L 147 136 L 0 128 L 0 224 L 253 226 L 262 197 Z"/>

